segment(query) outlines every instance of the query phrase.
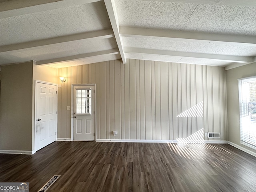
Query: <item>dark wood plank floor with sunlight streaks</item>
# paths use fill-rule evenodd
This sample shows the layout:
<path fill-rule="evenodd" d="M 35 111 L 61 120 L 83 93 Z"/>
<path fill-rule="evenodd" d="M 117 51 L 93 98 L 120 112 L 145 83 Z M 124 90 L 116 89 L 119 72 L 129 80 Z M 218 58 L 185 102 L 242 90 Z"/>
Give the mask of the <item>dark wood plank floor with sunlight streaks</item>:
<path fill-rule="evenodd" d="M 256 158 L 228 144 L 54 142 L 0 154 L 0 182 L 37 192 L 255 192 Z"/>

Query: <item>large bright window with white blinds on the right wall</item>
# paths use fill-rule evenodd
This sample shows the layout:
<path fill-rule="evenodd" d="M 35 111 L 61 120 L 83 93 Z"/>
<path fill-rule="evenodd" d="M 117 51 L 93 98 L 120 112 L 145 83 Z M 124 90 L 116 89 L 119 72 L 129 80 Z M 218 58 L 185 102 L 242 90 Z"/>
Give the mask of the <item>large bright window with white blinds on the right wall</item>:
<path fill-rule="evenodd" d="M 241 143 L 256 148 L 256 76 L 238 80 Z"/>

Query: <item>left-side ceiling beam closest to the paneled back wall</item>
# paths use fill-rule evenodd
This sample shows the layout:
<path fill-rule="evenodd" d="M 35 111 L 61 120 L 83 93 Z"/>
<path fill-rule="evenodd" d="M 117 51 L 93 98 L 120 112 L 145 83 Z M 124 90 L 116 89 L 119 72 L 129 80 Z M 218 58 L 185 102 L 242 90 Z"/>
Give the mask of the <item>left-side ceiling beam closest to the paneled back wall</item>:
<path fill-rule="evenodd" d="M 60 62 L 75 61 L 75 60 L 80 60 L 80 59 L 93 58 L 93 57 L 97 57 L 97 56 L 114 55 L 114 54 L 119 54 L 118 48 L 111 49 L 111 50 L 92 52 L 92 53 L 78 54 L 78 55 L 73 55 L 73 56 L 68 56 L 68 57 L 61 57 L 61 58 L 37 61 L 36 65 L 56 64 L 56 63 L 60 63 Z"/>

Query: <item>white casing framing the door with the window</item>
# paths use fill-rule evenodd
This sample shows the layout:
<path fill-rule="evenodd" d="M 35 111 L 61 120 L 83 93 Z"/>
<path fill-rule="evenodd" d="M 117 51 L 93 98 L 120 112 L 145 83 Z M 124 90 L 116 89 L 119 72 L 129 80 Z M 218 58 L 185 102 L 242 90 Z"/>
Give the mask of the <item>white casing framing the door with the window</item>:
<path fill-rule="evenodd" d="M 94 110 L 95 110 L 95 115 L 94 115 L 94 131 L 95 131 L 95 137 L 94 137 L 94 141 L 96 141 L 96 136 L 97 136 L 97 124 L 96 124 L 96 119 L 97 119 L 97 116 L 96 116 L 96 84 L 95 83 L 92 83 L 92 84 L 72 84 L 71 85 L 71 141 L 74 140 L 74 88 L 75 86 L 94 86 L 94 90 L 95 90 L 95 93 L 94 93 Z"/>

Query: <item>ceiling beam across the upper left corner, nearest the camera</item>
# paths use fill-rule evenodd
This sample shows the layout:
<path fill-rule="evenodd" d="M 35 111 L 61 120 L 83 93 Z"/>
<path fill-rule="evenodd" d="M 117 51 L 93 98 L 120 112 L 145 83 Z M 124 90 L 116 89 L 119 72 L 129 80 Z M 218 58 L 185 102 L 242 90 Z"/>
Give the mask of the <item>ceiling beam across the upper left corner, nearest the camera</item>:
<path fill-rule="evenodd" d="M 0 3 L 0 19 L 101 0 L 8 0 Z"/>

